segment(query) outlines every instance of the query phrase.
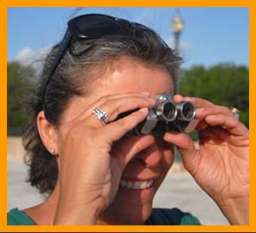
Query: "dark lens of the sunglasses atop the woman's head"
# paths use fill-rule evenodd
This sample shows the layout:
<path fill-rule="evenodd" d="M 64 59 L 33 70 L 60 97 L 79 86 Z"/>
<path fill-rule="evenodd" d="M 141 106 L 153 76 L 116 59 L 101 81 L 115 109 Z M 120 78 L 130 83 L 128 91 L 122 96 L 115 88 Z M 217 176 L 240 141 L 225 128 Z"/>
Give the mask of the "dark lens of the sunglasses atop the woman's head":
<path fill-rule="evenodd" d="M 90 37 L 101 37 L 124 32 L 124 27 L 120 22 L 107 16 L 80 17 L 76 19 L 75 24 L 83 35 Z"/>

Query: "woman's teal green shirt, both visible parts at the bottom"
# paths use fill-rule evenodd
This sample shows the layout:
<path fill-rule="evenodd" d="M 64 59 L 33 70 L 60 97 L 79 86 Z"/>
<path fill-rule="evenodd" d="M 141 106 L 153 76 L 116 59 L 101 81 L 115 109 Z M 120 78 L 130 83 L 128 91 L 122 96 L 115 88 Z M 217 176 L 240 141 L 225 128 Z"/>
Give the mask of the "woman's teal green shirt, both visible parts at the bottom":
<path fill-rule="evenodd" d="M 17 208 L 7 213 L 7 225 L 35 225 L 35 222 Z M 145 225 L 200 225 L 199 220 L 188 212 L 179 209 L 153 208 Z"/>

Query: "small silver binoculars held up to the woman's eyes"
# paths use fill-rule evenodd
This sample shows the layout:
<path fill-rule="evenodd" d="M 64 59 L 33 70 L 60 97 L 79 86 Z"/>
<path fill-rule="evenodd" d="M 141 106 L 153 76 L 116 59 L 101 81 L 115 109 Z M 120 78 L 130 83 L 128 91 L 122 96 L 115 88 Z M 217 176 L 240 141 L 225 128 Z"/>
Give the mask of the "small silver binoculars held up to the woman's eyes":
<path fill-rule="evenodd" d="M 170 130 L 190 133 L 197 123 L 194 104 L 189 101 L 174 103 L 170 94 L 160 93 L 156 97 L 155 106 L 149 109 L 144 121 L 126 135 L 148 135 L 152 131 Z"/>

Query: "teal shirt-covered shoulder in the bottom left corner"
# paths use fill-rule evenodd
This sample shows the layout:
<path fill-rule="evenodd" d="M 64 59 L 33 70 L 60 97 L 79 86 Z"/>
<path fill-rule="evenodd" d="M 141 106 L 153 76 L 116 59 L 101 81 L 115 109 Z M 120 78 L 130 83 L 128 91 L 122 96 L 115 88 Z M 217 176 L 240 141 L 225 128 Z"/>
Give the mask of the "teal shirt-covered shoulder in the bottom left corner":
<path fill-rule="evenodd" d="M 35 225 L 35 222 L 17 208 L 7 213 L 7 225 Z"/>

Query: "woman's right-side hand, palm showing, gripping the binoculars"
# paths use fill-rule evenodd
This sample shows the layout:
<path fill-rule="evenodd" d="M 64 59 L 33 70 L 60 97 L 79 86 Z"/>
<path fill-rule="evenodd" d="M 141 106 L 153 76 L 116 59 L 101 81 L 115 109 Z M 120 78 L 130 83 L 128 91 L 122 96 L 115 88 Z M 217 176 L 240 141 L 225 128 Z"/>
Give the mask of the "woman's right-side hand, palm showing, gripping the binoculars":
<path fill-rule="evenodd" d="M 174 97 L 195 104 L 200 149 L 189 135 L 168 132 L 164 140 L 177 146 L 184 167 L 214 199 L 231 224 L 248 224 L 249 132 L 227 107 L 201 98 Z"/>

